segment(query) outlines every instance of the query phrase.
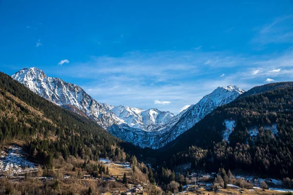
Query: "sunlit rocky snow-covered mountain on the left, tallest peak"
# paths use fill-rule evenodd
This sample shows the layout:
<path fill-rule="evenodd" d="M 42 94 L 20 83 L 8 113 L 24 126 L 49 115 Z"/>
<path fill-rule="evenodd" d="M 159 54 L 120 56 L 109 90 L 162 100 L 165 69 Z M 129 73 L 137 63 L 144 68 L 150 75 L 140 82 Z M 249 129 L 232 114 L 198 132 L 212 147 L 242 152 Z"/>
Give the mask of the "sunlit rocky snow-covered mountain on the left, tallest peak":
<path fill-rule="evenodd" d="M 24 68 L 12 75 L 12 78 L 24 84 L 39 96 L 46 98 L 57 105 L 73 105 L 83 111 L 88 117 L 107 128 L 113 124 L 124 123 L 112 112 L 108 112 L 105 104 L 98 103 L 85 91 L 72 83 L 64 82 L 60 78 L 47 77 L 38 68 Z"/>

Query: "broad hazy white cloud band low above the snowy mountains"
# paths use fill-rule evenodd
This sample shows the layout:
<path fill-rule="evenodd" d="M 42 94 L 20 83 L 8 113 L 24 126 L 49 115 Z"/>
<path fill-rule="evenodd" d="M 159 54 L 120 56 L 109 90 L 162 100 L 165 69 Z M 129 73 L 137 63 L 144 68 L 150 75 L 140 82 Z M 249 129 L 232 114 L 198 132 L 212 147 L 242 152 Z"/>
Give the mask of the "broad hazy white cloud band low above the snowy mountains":
<path fill-rule="evenodd" d="M 218 63 L 203 65 L 208 60 Z M 154 99 L 170 101 L 155 107 L 177 114 L 183 105 L 197 103 L 218 86 L 234 84 L 249 90 L 267 78 L 292 80 L 292 64 L 293 51 L 250 58 L 229 52 L 129 52 L 121 57 L 92 57 L 51 73 L 79 78 L 75 84 L 81 84 L 99 102 L 148 109 L 154 106 Z M 276 67 L 282 75 L 269 73 Z M 252 75 L 255 70 L 259 73 Z M 230 74 L 219 77 L 224 71 Z"/>

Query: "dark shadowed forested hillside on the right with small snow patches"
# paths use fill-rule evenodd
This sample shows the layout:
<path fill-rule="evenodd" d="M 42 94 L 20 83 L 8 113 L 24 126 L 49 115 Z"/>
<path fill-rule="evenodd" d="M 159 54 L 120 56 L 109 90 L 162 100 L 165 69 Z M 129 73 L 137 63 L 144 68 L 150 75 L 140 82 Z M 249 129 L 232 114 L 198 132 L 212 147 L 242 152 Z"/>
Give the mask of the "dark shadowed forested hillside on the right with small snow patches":
<path fill-rule="evenodd" d="M 289 83 L 291 84 L 291 83 Z M 228 124 L 234 124 L 229 132 Z M 276 127 L 276 128 L 274 128 Z M 228 140 L 223 138 L 228 137 Z M 172 149 L 170 149 L 172 148 Z M 161 151 L 170 167 L 219 167 L 293 177 L 293 88 L 248 96 L 221 106 Z"/>

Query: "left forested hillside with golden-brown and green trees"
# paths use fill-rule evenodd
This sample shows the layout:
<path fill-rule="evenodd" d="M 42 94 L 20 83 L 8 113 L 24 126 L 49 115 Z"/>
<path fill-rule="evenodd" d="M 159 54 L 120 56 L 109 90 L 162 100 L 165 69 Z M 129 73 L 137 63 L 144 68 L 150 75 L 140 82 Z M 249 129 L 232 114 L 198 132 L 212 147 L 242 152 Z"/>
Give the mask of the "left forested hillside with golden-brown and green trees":
<path fill-rule="evenodd" d="M 0 73 L 0 146 L 15 140 L 24 143 L 35 162 L 47 167 L 59 155 L 65 160 L 69 155 L 94 160 L 130 157 L 120 148 L 122 141 L 93 120 L 39 97 Z"/>

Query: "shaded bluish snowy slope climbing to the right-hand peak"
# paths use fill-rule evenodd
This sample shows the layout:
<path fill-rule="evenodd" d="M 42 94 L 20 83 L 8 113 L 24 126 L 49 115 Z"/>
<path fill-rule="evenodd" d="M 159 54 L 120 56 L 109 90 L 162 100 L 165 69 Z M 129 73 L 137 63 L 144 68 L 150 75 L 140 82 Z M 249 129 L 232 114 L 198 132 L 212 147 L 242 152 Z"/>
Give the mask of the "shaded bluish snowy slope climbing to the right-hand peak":
<path fill-rule="evenodd" d="M 203 97 L 198 103 L 189 106 L 178 115 L 171 117 L 165 124 L 157 126 L 151 132 L 142 133 L 123 128 L 123 133 L 115 129 L 112 129 L 111 133 L 121 137 L 123 140 L 132 140 L 132 143 L 143 148 L 161 148 L 190 129 L 212 110 L 218 106 L 230 103 L 244 92 L 244 90 L 234 85 L 218 87 L 212 93 Z"/>

